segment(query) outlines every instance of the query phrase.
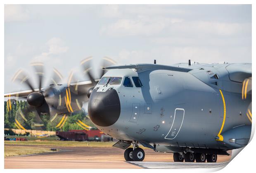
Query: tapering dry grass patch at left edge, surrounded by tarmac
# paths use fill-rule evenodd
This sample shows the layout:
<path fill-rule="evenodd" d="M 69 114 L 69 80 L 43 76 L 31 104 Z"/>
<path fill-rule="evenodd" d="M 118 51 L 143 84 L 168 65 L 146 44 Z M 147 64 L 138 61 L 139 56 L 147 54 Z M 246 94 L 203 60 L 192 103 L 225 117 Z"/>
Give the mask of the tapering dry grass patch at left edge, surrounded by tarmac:
<path fill-rule="evenodd" d="M 50 151 L 50 148 L 46 147 L 27 147 L 27 146 L 5 146 L 5 157 L 8 156 L 17 156 L 17 155 L 26 155 L 26 154 L 39 154 L 44 152 L 56 152 Z"/>

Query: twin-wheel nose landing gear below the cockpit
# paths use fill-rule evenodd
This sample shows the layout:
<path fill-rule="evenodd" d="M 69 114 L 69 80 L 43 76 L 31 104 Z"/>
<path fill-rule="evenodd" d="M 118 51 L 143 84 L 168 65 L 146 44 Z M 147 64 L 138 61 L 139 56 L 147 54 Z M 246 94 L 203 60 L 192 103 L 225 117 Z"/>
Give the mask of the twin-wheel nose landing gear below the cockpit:
<path fill-rule="evenodd" d="M 145 158 L 144 150 L 137 143 L 133 144 L 133 148 L 127 148 L 123 155 L 126 161 L 143 161 Z"/>

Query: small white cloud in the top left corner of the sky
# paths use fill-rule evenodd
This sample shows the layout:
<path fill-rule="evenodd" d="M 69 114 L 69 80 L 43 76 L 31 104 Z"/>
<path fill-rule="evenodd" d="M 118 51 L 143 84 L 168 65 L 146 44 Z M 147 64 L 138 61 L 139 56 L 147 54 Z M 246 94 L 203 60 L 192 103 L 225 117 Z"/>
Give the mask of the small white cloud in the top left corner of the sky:
<path fill-rule="evenodd" d="M 21 5 L 5 5 L 5 22 L 26 21 L 29 11 Z"/>

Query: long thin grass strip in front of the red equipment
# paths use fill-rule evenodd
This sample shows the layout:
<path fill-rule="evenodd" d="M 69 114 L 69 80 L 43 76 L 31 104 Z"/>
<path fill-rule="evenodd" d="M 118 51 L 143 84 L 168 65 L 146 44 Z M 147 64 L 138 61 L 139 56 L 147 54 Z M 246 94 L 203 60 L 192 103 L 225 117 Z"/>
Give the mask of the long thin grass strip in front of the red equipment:
<path fill-rule="evenodd" d="M 95 141 L 60 141 L 60 140 L 28 140 L 28 141 L 5 141 L 5 145 L 46 145 L 59 147 L 112 147 L 114 142 Z"/>

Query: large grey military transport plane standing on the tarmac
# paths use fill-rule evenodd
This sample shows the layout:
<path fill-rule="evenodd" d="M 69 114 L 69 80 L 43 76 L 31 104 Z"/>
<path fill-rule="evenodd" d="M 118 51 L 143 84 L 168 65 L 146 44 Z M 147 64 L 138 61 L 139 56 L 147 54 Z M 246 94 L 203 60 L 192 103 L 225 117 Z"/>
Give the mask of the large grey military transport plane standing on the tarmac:
<path fill-rule="evenodd" d="M 143 161 L 145 152 L 139 144 L 156 152 L 171 152 L 178 162 L 216 162 L 218 154 L 228 155 L 228 150 L 248 144 L 251 63 L 189 61 L 169 66 L 155 61 L 103 69 L 108 71 L 99 82 L 90 77 L 94 82 L 81 83 L 87 89 L 81 95 L 89 97 L 91 121 L 119 140 L 113 146 L 125 150 L 126 161 Z M 79 96 L 76 86 L 79 84 L 62 91 L 67 100 L 71 96 L 66 108 L 72 109 L 76 103 L 72 102 L 72 97 Z M 24 96 L 36 108 L 44 101 L 50 110 L 57 109 L 44 93 L 31 91 Z"/>

